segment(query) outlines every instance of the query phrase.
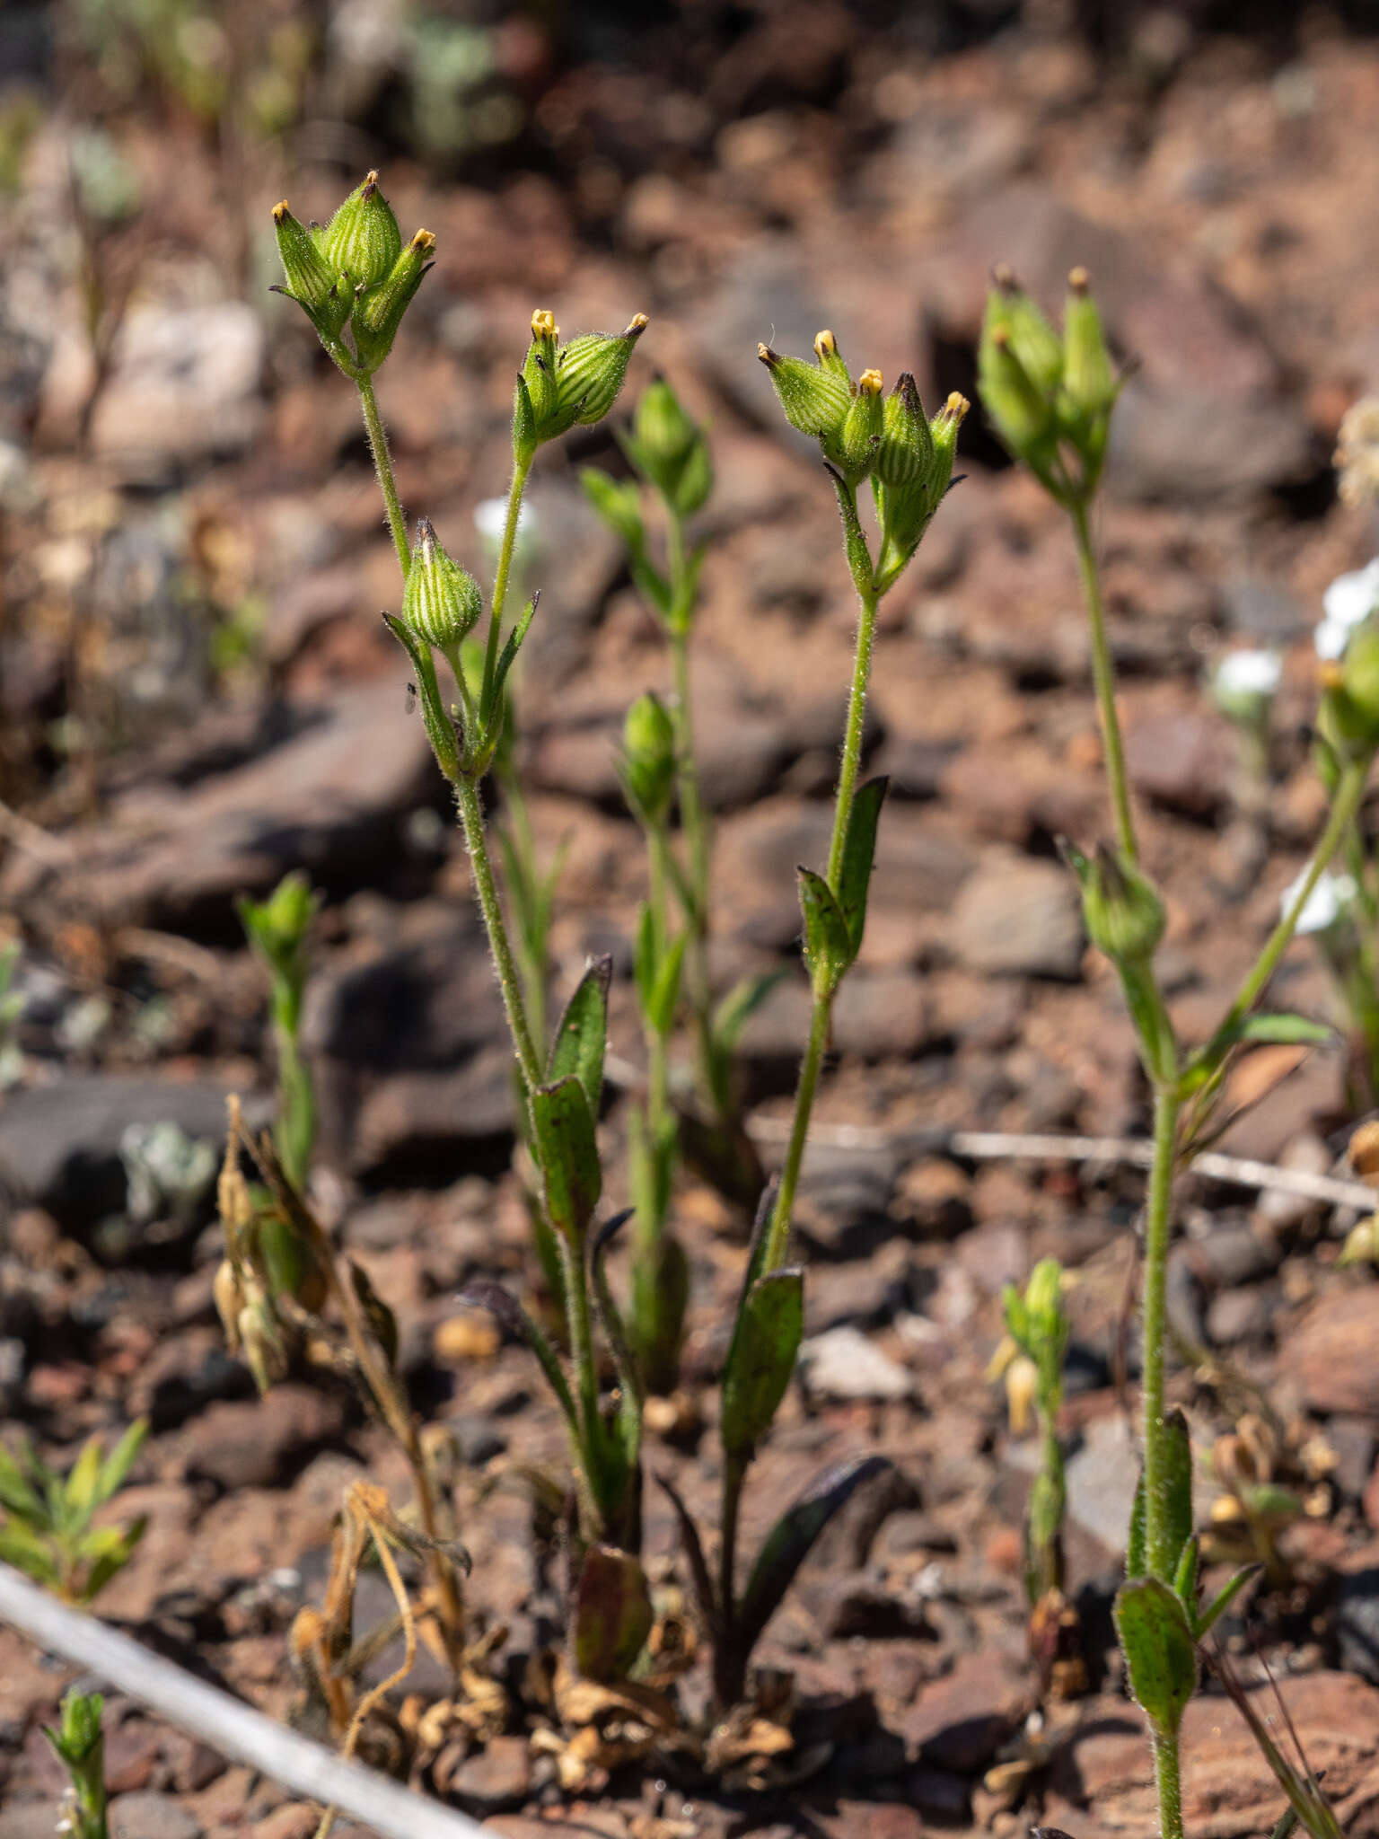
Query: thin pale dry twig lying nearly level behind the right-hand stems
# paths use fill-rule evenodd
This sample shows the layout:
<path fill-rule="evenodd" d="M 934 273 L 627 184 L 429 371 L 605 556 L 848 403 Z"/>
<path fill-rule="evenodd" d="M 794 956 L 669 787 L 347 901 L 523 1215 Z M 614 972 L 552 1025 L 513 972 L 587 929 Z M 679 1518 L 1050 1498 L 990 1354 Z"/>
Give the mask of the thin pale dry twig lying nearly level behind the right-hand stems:
<path fill-rule="evenodd" d="M 750 1131 L 763 1148 L 778 1148 L 785 1142 L 789 1125 L 780 1118 L 754 1118 Z M 857 1149 L 859 1155 L 892 1151 L 908 1160 L 952 1155 L 973 1162 L 1127 1162 L 1149 1168 L 1155 1159 L 1155 1146 L 1142 1137 L 1059 1137 L 1054 1131 L 881 1131 L 866 1124 L 815 1124 L 809 1138 L 815 1149 Z M 1261 1194 L 1296 1194 L 1329 1206 L 1359 1206 L 1364 1212 L 1373 1212 L 1379 1201 L 1375 1190 L 1359 1181 L 1315 1175 L 1304 1168 L 1278 1168 L 1274 1162 L 1223 1155 L 1219 1149 L 1195 1155 L 1188 1173 Z"/>

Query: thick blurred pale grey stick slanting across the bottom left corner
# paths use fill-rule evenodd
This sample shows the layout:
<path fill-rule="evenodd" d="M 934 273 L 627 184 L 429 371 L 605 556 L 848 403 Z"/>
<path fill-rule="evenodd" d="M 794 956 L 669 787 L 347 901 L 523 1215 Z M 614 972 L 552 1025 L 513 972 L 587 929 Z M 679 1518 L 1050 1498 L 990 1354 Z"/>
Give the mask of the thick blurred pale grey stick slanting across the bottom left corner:
<path fill-rule="evenodd" d="M 0 1622 L 28 1635 L 44 1653 L 61 1655 L 99 1675 L 118 1692 L 158 1712 L 178 1730 L 208 1743 L 219 1756 L 267 1775 L 305 1800 L 333 1802 L 379 1839 L 484 1839 L 485 1828 L 427 1795 L 414 1795 L 287 1725 L 186 1673 L 162 1655 L 96 1616 L 68 1609 L 0 1563 Z M 489 1835 L 491 1839 L 491 1835 Z"/>

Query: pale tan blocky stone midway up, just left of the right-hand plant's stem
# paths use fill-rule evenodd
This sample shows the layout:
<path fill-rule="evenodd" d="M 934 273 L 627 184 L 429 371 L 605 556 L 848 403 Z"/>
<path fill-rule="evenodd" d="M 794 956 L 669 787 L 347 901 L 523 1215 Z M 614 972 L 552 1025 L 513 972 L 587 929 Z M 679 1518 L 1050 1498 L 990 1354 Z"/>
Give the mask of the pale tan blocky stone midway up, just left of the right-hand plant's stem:
<path fill-rule="evenodd" d="M 1077 885 L 1055 862 L 991 855 L 963 883 L 947 938 L 963 969 L 1072 980 L 1083 960 Z"/>

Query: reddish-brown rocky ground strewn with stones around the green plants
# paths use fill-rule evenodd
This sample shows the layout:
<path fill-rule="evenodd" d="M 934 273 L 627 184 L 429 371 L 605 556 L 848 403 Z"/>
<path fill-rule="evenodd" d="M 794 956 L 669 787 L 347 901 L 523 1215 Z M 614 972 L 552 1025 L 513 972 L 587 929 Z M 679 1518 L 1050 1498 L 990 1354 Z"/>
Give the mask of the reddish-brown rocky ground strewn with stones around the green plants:
<path fill-rule="evenodd" d="M 401 1497 L 403 1477 L 348 1390 L 303 1370 L 254 1396 L 211 1308 L 206 1182 L 178 1199 L 129 1181 L 131 1125 L 173 1120 L 215 1144 L 226 1092 L 267 1113 L 263 988 L 232 896 L 294 866 L 327 894 L 307 1000 L 318 1199 L 399 1315 L 417 1407 L 463 1453 L 471 1600 L 507 1624 L 504 1677 L 557 1628 L 522 1475 L 563 1460 L 530 1357 L 456 1306 L 474 1276 L 531 1274 L 502 1013 L 379 622 L 399 583 L 357 410 L 296 309 L 263 292 L 283 189 L 324 215 L 351 182 L 344 162 L 377 162 L 405 228 L 436 232 L 381 401 L 406 504 L 480 574 L 473 513 L 506 484 L 533 305 L 566 329 L 651 313 L 631 386 L 664 368 L 712 425 L 695 688 L 717 813 L 715 975 L 726 988 L 791 967 L 745 1041 L 767 1162 L 805 1013 L 794 864 L 826 850 L 853 609 L 827 482 L 778 416 L 759 338 L 807 351 L 831 326 L 888 383 L 914 368 L 930 401 L 971 394 L 991 263 L 1050 303 L 1085 263 L 1138 362 L 1100 535 L 1145 853 L 1169 894 L 1162 965 L 1190 1037 L 1316 831 L 1311 627 L 1324 585 L 1375 548 L 1370 513 L 1335 498 L 1329 454 L 1344 408 L 1379 390 L 1379 44 L 1322 15 L 1289 40 L 1129 9 L 1125 42 L 1098 51 L 1055 7 L 1002 31 L 952 13 L 943 29 L 938 7 L 923 26 L 864 28 L 824 0 L 730 31 L 686 9 L 636 61 L 616 15 L 583 55 L 504 28 L 504 94 L 528 127 L 458 173 L 386 158 L 362 105 L 335 138 L 303 129 L 234 169 L 226 138 L 186 109 L 112 105 L 142 206 L 96 226 L 74 206 L 70 121 L 48 109 L 0 199 L 0 908 L 22 940 L 22 1059 L 0 1102 L 0 1398 L 50 1453 L 151 1416 L 123 1501 L 149 1532 L 101 1613 L 274 1714 L 292 1712 L 285 1631 L 320 1600 L 342 1488 L 368 1473 Z M 40 97 L 42 81 L 39 61 Z M 81 72 L 66 81 L 85 94 Z M 96 359 L 83 276 L 99 283 Z M 509 1839 L 908 1839 L 1013 1833 L 1031 1817 L 1077 1839 L 1153 1830 L 1109 1624 L 1136 1473 L 1123 1381 L 1142 1177 L 940 1157 L 925 1138 L 1145 1129 L 1118 989 L 1085 949 L 1054 848 L 1107 824 L 1072 548 L 980 414 L 963 443 L 963 484 L 884 603 L 870 767 L 892 794 L 800 1206 L 805 1361 L 746 1539 L 833 1456 L 873 1447 L 894 1475 L 829 1534 L 763 1642 L 800 1707 L 765 1786 L 660 1756 L 566 1793 L 552 1747 L 513 1725 L 445 1753 L 428 1784 Z M 614 954 L 616 1201 L 644 861 L 614 739 L 666 662 L 576 487 L 588 460 L 618 463 L 607 428 L 546 451 L 531 495 L 542 601 L 524 774 L 542 850 L 566 848 L 561 991 L 587 953 Z M 1285 651 L 1261 813 L 1201 688 L 1241 642 Z M 1278 993 L 1329 1013 L 1305 943 Z M 1340 1050 L 1256 1054 L 1234 1094 L 1250 1109 L 1223 1148 L 1339 1166 L 1344 1070 Z M 690 1181 L 678 1217 L 695 1269 L 686 1399 L 664 1414 L 653 1466 L 712 1517 L 719 1455 L 699 1423 L 715 1416 L 745 1228 Z M 1193 1179 L 1180 1217 L 1173 1326 L 1201 1359 L 1177 1368 L 1175 1396 L 1204 1453 L 1243 1412 L 1263 1422 L 1276 1477 L 1305 1499 L 1254 1596 L 1254 1635 L 1236 1620 L 1228 1646 L 1256 1683 L 1258 1640 L 1342 1828 L 1377 1833 L 1373 1273 L 1335 1269 L 1355 1216 L 1333 1208 Z M 1000 1285 L 1050 1252 L 1077 1276 L 1068 1572 L 1092 1690 L 1037 1712 L 1019 1582 L 1033 1444 L 1008 1431 L 984 1370 Z M 1208 1469 L 1202 1515 L 1219 1491 Z M 675 1530 L 658 1495 L 647 1512 L 667 1580 Z M 0 1835 L 26 1839 L 51 1830 L 59 1780 L 39 1725 L 74 1672 L 7 1631 L 0 1662 Z M 410 1686 L 423 1699 L 439 1690 L 425 1666 Z M 136 1707 L 116 1701 L 108 1719 L 114 1832 L 313 1832 L 307 1810 Z M 1186 1754 L 1190 1832 L 1272 1826 L 1278 1789 L 1223 1697 L 1190 1712 Z"/>

